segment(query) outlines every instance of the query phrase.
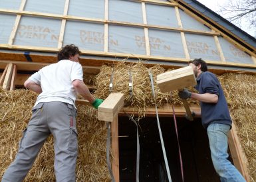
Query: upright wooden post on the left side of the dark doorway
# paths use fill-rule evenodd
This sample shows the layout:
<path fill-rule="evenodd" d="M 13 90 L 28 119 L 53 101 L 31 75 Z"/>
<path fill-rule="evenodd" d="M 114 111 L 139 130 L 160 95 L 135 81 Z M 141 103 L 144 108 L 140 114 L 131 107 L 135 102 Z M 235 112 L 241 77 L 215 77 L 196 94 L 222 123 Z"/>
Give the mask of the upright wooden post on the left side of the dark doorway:
<path fill-rule="evenodd" d="M 111 144 L 112 144 L 112 172 L 116 182 L 120 181 L 119 177 L 119 146 L 118 146 L 118 116 L 114 117 L 111 122 Z"/>

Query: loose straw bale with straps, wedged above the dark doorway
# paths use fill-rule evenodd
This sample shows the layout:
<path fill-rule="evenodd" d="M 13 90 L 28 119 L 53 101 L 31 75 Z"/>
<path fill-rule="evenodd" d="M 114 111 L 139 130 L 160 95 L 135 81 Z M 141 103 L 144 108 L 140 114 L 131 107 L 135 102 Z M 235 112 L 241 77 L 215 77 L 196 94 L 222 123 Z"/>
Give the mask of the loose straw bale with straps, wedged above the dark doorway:
<path fill-rule="evenodd" d="M 154 79 L 156 101 L 152 96 L 149 71 L 152 73 Z M 160 73 L 164 73 L 164 71 L 164 68 L 161 68 L 160 65 L 146 68 L 142 62 L 138 64 L 119 62 L 112 66 L 102 66 L 100 73 L 95 79 L 96 92 L 94 95 L 101 99 L 108 97 L 110 94 L 110 78 L 112 76 L 112 92 L 124 93 L 124 105 L 133 107 L 134 112 L 139 114 L 139 119 L 144 116 L 146 107 L 152 107 L 155 103 L 158 107 L 164 105 L 164 103 L 181 105 L 182 102 L 177 95 L 178 91 L 161 93 L 157 86 L 156 76 Z M 129 73 L 132 74 L 132 97 L 130 97 L 129 94 Z"/>

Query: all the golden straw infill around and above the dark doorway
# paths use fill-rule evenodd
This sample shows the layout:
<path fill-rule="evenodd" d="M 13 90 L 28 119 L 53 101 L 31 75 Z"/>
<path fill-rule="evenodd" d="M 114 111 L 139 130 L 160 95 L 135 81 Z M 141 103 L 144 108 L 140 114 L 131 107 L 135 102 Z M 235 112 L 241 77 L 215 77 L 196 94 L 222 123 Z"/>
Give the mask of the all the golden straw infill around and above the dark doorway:
<path fill-rule="evenodd" d="M 134 107 L 144 116 L 146 107 L 154 105 L 148 69 L 142 64 L 126 65 L 120 63 L 114 66 L 113 91 L 124 93 L 126 106 Z M 112 67 L 102 66 L 102 69 L 93 83 L 96 85 L 94 95 L 105 99 L 109 92 Z M 129 71 L 130 70 L 130 71 Z M 150 69 L 156 75 L 164 69 L 154 66 Z M 129 74 L 132 73 L 133 93 L 129 95 Z M 256 75 L 225 74 L 219 77 L 233 121 L 241 140 L 243 150 L 248 159 L 251 181 L 256 181 Z M 160 93 L 155 84 L 156 103 L 181 105 L 177 93 Z M 31 117 L 31 108 L 37 95 L 24 89 L 3 91 L 0 89 L 0 177 L 15 158 L 18 142 L 22 131 Z M 196 103 L 190 101 L 190 104 Z M 78 106 L 77 116 L 79 154 L 76 165 L 77 181 L 110 181 L 106 166 L 106 126 L 96 119 L 96 110 L 91 107 Z M 26 181 L 54 181 L 53 169 L 53 138 L 43 146 L 39 158 L 27 175 Z"/>

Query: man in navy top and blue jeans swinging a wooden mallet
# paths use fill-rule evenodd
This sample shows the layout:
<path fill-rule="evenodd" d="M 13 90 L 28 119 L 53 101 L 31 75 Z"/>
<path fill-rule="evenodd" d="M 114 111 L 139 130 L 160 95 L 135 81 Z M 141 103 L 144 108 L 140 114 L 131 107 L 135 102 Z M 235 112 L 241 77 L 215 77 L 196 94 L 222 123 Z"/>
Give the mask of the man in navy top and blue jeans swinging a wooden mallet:
<path fill-rule="evenodd" d="M 232 120 L 229 115 L 227 101 L 217 77 L 207 71 L 207 64 L 201 59 L 189 62 L 196 77 L 195 89 L 199 93 L 191 93 L 187 89 L 179 92 L 182 99 L 200 101 L 201 122 L 207 130 L 213 166 L 222 181 L 245 181 L 241 173 L 227 159 L 227 134 Z M 195 114 L 195 113 L 193 113 Z"/>

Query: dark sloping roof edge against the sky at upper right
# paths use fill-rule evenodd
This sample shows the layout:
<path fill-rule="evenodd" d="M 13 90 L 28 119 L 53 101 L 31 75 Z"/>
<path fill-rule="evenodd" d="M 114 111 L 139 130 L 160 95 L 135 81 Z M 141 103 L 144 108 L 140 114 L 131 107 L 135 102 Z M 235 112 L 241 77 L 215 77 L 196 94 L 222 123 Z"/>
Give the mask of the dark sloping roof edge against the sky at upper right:
<path fill-rule="evenodd" d="M 178 3 L 182 3 L 182 1 L 180 1 L 180 0 L 177 0 L 177 1 L 178 1 Z M 199 11 L 201 14 L 205 15 L 206 17 L 209 17 L 209 19 L 215 21 L 217 24 L 220 24 L 221 26 L 223 26 L 224 28 L 226 28 L 227 30 L 229 30 L 230 32 L 235 34 L 235 36 L 238 36 L 239 38 L 241 38 L 247 44 L 250 44 L 251 46 L 253 46 L 254 52 L 255 52 L 256 38 L 254 38 L 247 32 L 241 30 L 241 28 L 235 26 L 235 24 L 227 21 L 227 19 L 221 17 L 220 15 L 218 15 L 211 9 L 205 7 L 205 5 L 199 3 L 199 1 L 196 1 L 196 0 L 183 0 L 183 1 L 185 3 L 187 3 L 188 5 L 190 5 L 191 7 L 193 7 L 193 9 Z M 189 7 L 187 7 L 187 8 L 190 9 Z M 190 9 L 190 10 L 193 11 L 192 9 Z M 196 13 L 196 12 L 194 12 L 194 13 Z M 196 14 L 198 15 L 198 13 L 196 13 Z M 201 18 L 203 18 L 203 17 L 201 17 Z M 207 21 L 207 20 L 205 20 L 205 21 Z M 221 29 L 220 27 L 217 27 L 217 28 L 219 28 L 219 30 L 221 30 L 223 32 L 226 32 L 225 30 Z M 232 37 L 232 38 L 235 40 L 237 39 L 235 37 Z M 238 42 L 241 43 L 240 41 L 238 41 Z M 243 44 L 243 43 L 241 43 L 241 44 Z M 251 51 L 253 51 L 253 50 L 251 49 Z"/>

